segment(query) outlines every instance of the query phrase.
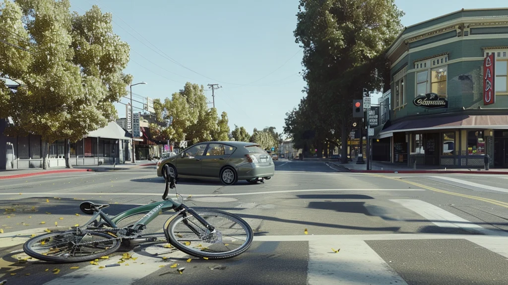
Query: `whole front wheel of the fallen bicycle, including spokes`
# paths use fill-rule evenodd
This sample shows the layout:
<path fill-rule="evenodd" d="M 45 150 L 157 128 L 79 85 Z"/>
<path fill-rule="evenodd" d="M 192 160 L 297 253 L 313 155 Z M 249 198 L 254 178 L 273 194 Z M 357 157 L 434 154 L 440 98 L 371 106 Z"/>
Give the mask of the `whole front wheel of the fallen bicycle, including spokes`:
<path fill-rule="evenodd" d="M 169 240 L 178 250 L 196 257 L 226 259 L 245 252 L 252 243 L 252 229 L 241 218 L 219 210 L 196 210 L 215 227 L 210 232 L 190 213 L 180 213 L 168 226 Z"/>

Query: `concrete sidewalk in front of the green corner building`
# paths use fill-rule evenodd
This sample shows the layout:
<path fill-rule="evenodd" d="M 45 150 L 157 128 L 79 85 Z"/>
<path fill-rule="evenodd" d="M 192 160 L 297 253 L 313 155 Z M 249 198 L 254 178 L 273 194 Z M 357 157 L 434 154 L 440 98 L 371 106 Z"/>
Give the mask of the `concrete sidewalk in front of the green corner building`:
<path fill-rule="evenodd" d="M 508 174 L 508 169 L 489 169 L 483 168 L 438 168 L 429 165 L 417 165 L 417 168 L 407 167 L 404 164 L 389 163 L 389 162 L 371 162 L 371 170 L 367 170 L 367 163 L 357 164 L 357 160 L 347 164 L 340 164 L 340 162 L 332 162 L 338 167 L 343 168 L 350 172 L 364 172 L 364 173 L 471 173 L 471 174 Z"/>

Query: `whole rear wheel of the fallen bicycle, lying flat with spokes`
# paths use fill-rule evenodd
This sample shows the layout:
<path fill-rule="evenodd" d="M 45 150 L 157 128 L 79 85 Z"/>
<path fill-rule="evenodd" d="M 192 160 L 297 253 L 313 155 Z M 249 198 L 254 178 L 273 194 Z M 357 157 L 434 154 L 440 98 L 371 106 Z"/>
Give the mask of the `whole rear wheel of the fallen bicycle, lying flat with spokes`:
<path fill-rule="evenodd" d="M 120 247 L 120 240 L 101 232 L 76 230 L 52 232 L 30 238 L 23 251 L 36 259 L 72 263 L 90 261 L 112 254 Z"/>

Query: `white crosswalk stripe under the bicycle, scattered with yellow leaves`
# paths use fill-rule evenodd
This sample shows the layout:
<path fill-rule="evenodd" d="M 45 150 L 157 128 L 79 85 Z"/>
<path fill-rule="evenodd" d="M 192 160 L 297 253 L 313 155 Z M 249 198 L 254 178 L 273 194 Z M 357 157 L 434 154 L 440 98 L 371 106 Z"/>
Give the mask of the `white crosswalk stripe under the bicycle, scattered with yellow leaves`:
<path fill-rule="evenodd" d="M 188 257 L 186 254 L 180 251 L 173 252 L 171 254 L 158 255 L 155 256 L 156 253 L 167 252 L 170 251 L 168 248 L 164 248 L 162 246 L 149 246 L 146 248 L 146 253 L 151 254 L 150 256 L 139 255 L 134 253 L 134 257 L 137 259 L 134 260 L 126 260 L 124 263 L 121 263 L 120 266 L 108 267 L 104 269 L 99 269 L 99 266 L 106 266 L 107 264 L 117 263 L 120 259 L 120 256 L 100 260 L 99 266 L 88 265 L 86 267 L 80 268 L 78 270 L 72 271 L 66 275 L 60 276 L 56 279 L 53 279 L 49 282 L 44 283 L 44 285 L 68 285 L 68 284 L 79 284 L 79 285 L 89 285 L 89 284 L 108 284 L 108 285 L 125 285 L 132 284 L 136 280 L 139 280 L 146 275 L 149 275 L 159 269 L 161 269 L 161 265 L 165 265 L 169 267 L 174 264 L 175 261 L 171 259 L 176 258 L 186 258 Z M 129 252 L 129 254 L 133 254 L 133 252 Z M 167 257 L 167 260 L 163 260 L 163 257 Z M 144 263 L 144 264 L 141 264 Z M 171 269 L 176 271 L 177 268 L 185 266 L 183 261 L 177 261 L 180 264 L 178 267 Z M 129 266 L 126 266 L 129 264 Z M 164 269 L 166 270 L 166 269 Z M 114 277 L 113 277 L 114 276 Z"/>

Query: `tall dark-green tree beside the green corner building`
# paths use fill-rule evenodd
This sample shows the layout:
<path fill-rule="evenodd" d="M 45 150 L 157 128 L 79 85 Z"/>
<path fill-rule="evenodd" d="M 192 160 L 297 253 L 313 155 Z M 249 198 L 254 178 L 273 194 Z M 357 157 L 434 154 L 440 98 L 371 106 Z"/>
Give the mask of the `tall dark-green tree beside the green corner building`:
<path fill-rule="evenodd" d="M 294 35 L 303 48 L 306 97 L 287 114 L 284 132 L 299 147 L 345 142 L 352 100 L 363 88 L 384 87 L 384 52 L 402 28 L 403 12 L 394 0 L 300 0 L 298 9 Z"/>

